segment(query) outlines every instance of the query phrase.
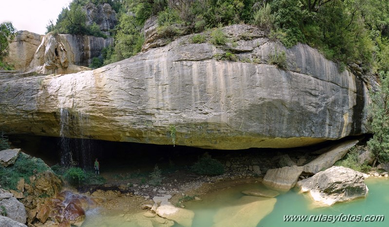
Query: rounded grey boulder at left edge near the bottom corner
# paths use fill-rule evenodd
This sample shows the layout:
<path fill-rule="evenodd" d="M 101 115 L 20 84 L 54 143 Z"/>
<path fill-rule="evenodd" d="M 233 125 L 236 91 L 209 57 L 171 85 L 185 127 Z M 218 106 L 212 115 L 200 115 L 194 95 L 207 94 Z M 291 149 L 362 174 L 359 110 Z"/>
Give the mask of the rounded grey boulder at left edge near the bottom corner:
<path fill-rule="evenodd" d="M 19 223 L 26 223 L 26 209 L 12 193 L 0 189 L 0 207 L 6 210 L 8 218 Z"/>

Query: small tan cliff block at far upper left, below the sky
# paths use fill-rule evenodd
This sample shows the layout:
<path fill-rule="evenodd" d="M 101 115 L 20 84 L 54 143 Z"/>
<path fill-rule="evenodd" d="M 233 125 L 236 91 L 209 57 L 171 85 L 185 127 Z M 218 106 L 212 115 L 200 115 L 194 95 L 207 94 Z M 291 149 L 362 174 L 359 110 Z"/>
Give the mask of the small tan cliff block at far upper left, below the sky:
<path fill-rule="evenodd" d="M 30 65 L 42 38 L 43 35 L 29 31 L 18 31 L 14 40 L 9 44 L 9 55 L 4 61 L 13 64 L 15 70 L 25 71 Z"/>

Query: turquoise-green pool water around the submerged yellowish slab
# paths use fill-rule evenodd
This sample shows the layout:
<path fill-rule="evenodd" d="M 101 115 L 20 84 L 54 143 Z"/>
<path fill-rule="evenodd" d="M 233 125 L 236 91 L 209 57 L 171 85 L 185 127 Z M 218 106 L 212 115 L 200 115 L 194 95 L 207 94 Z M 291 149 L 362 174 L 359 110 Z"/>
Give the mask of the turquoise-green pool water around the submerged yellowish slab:
<path fill-rule="evenodd" d="M 332 207 L 317 208 L 307 194 L 292 190 L 278 195 L 274 210 L 265 216 L 257 227 L 388 227 L 389 226 L 389 179 L 366 179 L 369 188 L 368 197 L 348 203 L 335 204 Z M 260 188 L 260 184 L 248 184 L 204 195 L 204 201 L 188 203 L 186 208 L 195 212 L 193 227 L 212 226 L 214 215 L 219 209 L 234 203 L 243 194 L 242 190 Z M 284 215 L 385 215 L 383 222 L 284 222 Z M 328 218 L 328 217 L 327 217 Z"/>

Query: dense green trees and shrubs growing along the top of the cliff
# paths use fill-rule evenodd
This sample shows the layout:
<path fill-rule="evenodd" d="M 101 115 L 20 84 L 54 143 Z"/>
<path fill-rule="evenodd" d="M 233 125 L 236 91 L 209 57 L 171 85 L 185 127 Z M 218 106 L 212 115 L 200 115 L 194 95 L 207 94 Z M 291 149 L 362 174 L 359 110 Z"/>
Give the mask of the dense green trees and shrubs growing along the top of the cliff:
<path fill-rule="evenodd" d="M 156 16 L 158 33 L 168 38 L 250 23 L 286 47 L 307 43 L 341 65 L 357 62 L 365 69 L 389 70 L 385 0 L 74 0 L 48 32 L 99 35 L 98 26 L 85 25 L 82 6 L 89 2 L 109 3 L 117 12 L 118 24 L 111 31 L 115 44 L 104 51 L 104 64 L 140 52 L 145 21 Z M 195 42 L 203 41 L 196 36 Z"/>

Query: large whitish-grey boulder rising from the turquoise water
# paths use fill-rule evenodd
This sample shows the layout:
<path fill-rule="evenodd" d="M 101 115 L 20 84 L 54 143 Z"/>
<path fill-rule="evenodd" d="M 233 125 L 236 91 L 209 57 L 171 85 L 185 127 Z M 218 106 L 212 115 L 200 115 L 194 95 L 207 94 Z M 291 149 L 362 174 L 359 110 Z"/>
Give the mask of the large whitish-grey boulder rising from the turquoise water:
<path fill-rule="evenodd" d="M 305 179 L 301 192 L 309 192 L 320 205 L 331 206 L 338 202 L 366 197 L 368 187 L 362 173 L 342 166 L 333 166 Z"/>

